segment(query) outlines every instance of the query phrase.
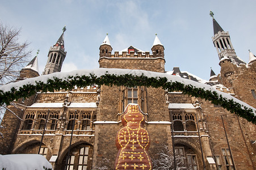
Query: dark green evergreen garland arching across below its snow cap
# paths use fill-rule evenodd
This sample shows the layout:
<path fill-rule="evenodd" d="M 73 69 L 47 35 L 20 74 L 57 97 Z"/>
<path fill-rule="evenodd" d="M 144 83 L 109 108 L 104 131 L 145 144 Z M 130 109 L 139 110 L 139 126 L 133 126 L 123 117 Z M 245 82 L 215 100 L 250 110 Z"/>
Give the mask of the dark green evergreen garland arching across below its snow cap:
<path fill-rule="evenodd" d="M 22 87 L 19 87 L 19 90 L 16 90 L 14 87 L 11 88 L 11 91 L 3 92 L 0 90 L 0 104 L 6 103 L 10 104 L 10 101 L 18 100 L 22 97 L 27 98 L 32 95 L 35 95 L 36 92 L 54 92 L 56 90 L 72 90 L 74 86 L 77 87 L 86 87 L 91 84 L 106 85 L 106 86 L 126 86 L 126 87 L 135 87 L 135 86 L 146 86 L 160 88 L 168 92 L 173 91 L 182 91 L 183 94 L 200 97 L 202 99 L 211 101 L 212 104 L 221 105 L 221 107 L 227 109 L 231 113 L 235 113 L 240 117 L 245 118 L 247 121 L 253 122 L 256 124 L 256 116 L 254 116 L 253 109 L 246 108 L 244 105 L 237 103 L 236 101 L 228 100 L 225 97 L 218 95 L 217 92 L 211 92 L 209 90 L 204 90 L 204 88 L 198 88 L 192 86 L 191 84 L 185 85 L 181 82 L 170 82 L 165 77 L 148 77 L 144 74 L 132 75 L 132 74 L 106 74 L 97 77 L 94 74 L 90 76 L 86 75 L 76 75 L 69 76 L 68 78 L 60 79 L 53 77 L 53 79 L 48 79 L 47 83 L 37 82 L 36 85 L 24 84 Z"/>

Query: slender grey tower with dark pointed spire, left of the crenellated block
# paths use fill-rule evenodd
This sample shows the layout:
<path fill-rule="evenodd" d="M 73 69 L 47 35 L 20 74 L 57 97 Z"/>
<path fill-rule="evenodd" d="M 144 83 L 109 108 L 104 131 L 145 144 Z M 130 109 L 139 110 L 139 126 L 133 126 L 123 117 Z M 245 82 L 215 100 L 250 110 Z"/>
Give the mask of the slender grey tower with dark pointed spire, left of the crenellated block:
<path fill-rule="evenodd" d="M 47 64 L 42 75 L 61 71 L 62 63 L 66 57 L 64 48 L 64 32 L 66 31 L 66 27 L 62 31 L 58 41 L 49 49 Z"/>

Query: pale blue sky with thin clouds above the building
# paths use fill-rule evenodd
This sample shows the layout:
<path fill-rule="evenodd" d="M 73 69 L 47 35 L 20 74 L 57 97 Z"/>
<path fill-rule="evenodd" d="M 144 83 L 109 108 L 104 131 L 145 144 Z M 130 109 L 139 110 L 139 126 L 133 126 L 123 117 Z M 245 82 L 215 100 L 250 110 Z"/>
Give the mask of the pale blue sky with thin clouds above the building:
<path fill-rule="evenodd" d="M 256 1 L 5 1 L 0 0 L 0 22 L 22 28 L 20 41 L 31 42 L 32 56 L 40 49 L 39 71 L 66 25 L 62 71 L 98 68 L 99 46 L 106 33 L 113 51 L 133 45 L 151 51 L 155 33 L 165 46 L 165 70 L 180 67 L 209 79 L 210 67 L 220 71 L 212 43 L 209 11 L 224 31 L 229 31 L 237 56 L 249 62 L 256 54 Z"/>

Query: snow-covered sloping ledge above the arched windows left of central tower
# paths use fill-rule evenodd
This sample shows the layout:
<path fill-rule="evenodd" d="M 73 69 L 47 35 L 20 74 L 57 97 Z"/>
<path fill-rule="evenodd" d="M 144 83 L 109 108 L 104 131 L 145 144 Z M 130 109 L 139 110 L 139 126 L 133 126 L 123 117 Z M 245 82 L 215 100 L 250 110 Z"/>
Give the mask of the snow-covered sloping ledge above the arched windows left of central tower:
<path fill-rule="evenodd" d="M 63 103 L 34 103 L 28 108 L 61 108 Z M 96 103 L 71 103 L 68 108 L 97 108 Z"/>

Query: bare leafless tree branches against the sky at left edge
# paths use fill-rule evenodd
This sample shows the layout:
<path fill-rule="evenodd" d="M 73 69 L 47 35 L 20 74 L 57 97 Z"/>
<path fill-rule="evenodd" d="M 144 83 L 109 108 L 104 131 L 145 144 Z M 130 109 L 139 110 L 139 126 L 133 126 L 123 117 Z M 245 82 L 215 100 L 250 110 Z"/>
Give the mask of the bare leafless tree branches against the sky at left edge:
<path fill-rule="evenodd" d="M 31 57 L 29 43 L 19 42 L 20 30 L 0 23 L 0 86 L 14 82 Z"/>

